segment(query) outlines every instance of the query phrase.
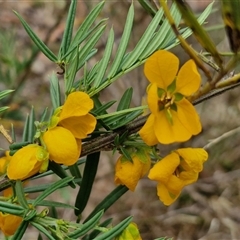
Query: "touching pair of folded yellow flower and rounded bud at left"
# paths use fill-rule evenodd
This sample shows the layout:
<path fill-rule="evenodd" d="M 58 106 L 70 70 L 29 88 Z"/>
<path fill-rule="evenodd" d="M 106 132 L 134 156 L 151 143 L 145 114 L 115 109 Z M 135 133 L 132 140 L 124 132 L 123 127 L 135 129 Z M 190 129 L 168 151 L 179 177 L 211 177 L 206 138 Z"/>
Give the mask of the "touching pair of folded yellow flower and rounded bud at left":
<path fill-rule="evenodd" d="M 73 165 L 81 153 L 81 140 L 95 129 L 96 119 L 89 111 L 93 101 L 84 92 L 68 95 L 63 106 L 55 110 L 48 128 L 38 144 L 18 150 L 7 167 L 9 179 L 22 180 L 47 170 L 48 161 Z"/>

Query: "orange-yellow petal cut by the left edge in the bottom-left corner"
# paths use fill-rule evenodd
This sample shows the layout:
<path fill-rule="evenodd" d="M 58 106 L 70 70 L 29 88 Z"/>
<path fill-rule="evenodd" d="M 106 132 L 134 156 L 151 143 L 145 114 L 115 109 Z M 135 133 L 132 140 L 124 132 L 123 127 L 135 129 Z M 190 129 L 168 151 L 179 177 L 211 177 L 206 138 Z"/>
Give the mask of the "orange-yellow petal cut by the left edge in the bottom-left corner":
<path fill-rule="evenodd" d="M 0 229 L 5 236 L 13 235 L 21 222 L 22 218 L 19 216 L 0 212 Z"/>

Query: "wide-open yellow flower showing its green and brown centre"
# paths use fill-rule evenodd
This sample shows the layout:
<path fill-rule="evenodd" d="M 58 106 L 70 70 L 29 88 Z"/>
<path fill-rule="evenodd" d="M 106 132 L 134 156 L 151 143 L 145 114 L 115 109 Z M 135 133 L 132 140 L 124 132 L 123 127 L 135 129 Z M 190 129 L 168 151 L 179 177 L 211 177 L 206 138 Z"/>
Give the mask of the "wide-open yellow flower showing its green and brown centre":
<path fill-rule="evenodd" d="M 185 98 L 199 89 L 200 75 L 193 60 L 179 72 L 178 66 L 178 58 L 165 50 L 155 52 L 144 66 L 151 82 L 147 88 L 151 114 L 139 134 L 149 146 L 187 141 L 202 129 L 195 108 Z"/>

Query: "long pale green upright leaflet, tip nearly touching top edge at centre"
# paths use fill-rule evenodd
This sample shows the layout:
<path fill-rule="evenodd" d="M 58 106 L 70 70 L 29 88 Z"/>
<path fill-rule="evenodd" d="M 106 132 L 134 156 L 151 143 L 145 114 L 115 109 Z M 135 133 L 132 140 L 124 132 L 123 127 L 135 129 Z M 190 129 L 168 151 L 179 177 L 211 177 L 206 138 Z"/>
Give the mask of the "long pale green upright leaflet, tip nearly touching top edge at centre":
<path fill-rule="evenodd" d="M 108 73 L 107 78 L 111 78 L 112 76 L 114 76 L 119 69 L 119 66 L 123 60 L 123 56 L 124 56 L 124 53 L 126 52 L 129 38 L 130 38 L 130 35 L 132 32 L 133 20 L 134 20 L 134 8 L 133 8 L 133 4 L 131 4 L 129 11 L 128 11 L 126 23 L 124 26 L 122 38 L 119 43 L 118 50 L 116 52 L 116 57 L 113 60 L 113 63 L 112 63 L 112 66 Z"/>

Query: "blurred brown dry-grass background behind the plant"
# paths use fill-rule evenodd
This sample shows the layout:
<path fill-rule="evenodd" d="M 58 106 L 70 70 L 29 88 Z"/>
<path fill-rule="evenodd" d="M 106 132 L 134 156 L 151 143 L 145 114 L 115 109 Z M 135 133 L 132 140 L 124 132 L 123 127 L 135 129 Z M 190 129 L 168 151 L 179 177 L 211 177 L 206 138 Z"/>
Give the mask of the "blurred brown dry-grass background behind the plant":
<path fill-rule="evenodd" d="M 76 27 L 98 2 L 100 1 L 78 2 Z M 210 1 L 188 2 L 198 14 Z M 0 2 L 0 91 L 16 90 L 1 103 L 3 106 L 9 105 L 10 109 L 1 115 L 0 121 L 6 129 L 10 129 L 13 123 L 19 137 L 23 120 L 26 114 L 29 114 L 31 106 L 35 107 L 37 114 L 41 114 L 44 108 L 50 105 L 49 78 L 52 71 L 56 72 L 60 69 L 33 47 L 12 10 L 19 12 L 49 48 L 56 52 L 61 42 L 69 3 L 69 1 Z M 130 4 L 131 1 L 128 0 L 106 1 L 99 16 L 100 19 L 109 18 L 108 30 L 112 26 L 114 28 L 116 35 L 114 51 L 121 38 L 124 19 Z M 134 1 L 134 8 L 135 19 L 129 50 L 133 49 L 151 21 L 151 17 L 137 1 Z M 214 11 L 205 27 L 209 30 L 218 50 L 228 52 L 229 46 L 218 2 L 214 4 Z M 89 67 L 102 56 L 108 30 L 98 43 L 99 51 L 96 58 L 89 61 Z M 189 38 L 188 41 L 197 51 L 202 50 L 193 38 Z M 188 59 L 181 47 L 178 46 L 172 51 L 181 59 L 181 63 Z M 237 68 L 236 71 L 238 71 Z M 60 77 L 60 84 L 62 81 Z M 119 100 L 128 87 L 133 87 L 132 107 L 139 106 L 143 101 L 146 86 L 147 81 L 142 67 L 139 67 L 104 90 L 101 93 L 101 99 L 106 102 Z M 197 106 L 203 132 L 187 143 L 178 144 L 178 147 L 203 147 L 209 140 L 235 130 L 211 146 L 209 160 L 205 164 L 199 181 L 186 187 L 176 203 L 171 207 L 165 207 L 156 196 L 155 183 L 142 179 L 137 190 L 134 193 L 127 192 L 107 210 L 105 217 L 113 217 L 117 222 L 133 215 L 142 238 L 149 240 L 159 236 L 174 239 L 238 239 L 240 236 L 239 100 L 239 89 L 234 89 Z M 7 142 L 2 136 L 0 136 L 0 142 L 2 147 L 7 148 Z M 163 154 L 166 154 L 175 147 L 176 144 L 168 147 L 160 146 L 160 149 Z M 114 188 L 116 159 L 117 156 L 112 156 L 111 153 L 102 154 L 90 202 L 84 212 L 86 216 Z M 62 198 L 66 203 L 74 204 L 72 202 L 74 198 L 71 198 L 71 195 L 76 195 L 74 191 L 74 189 L 63 189 L 51 197 Z M 65 209 L 60 211 L 58 216 L 69 220 L 75 219 L 73 212 Z M 34 234 L 30 229 L 26 239 L 34 238 Z"/>

